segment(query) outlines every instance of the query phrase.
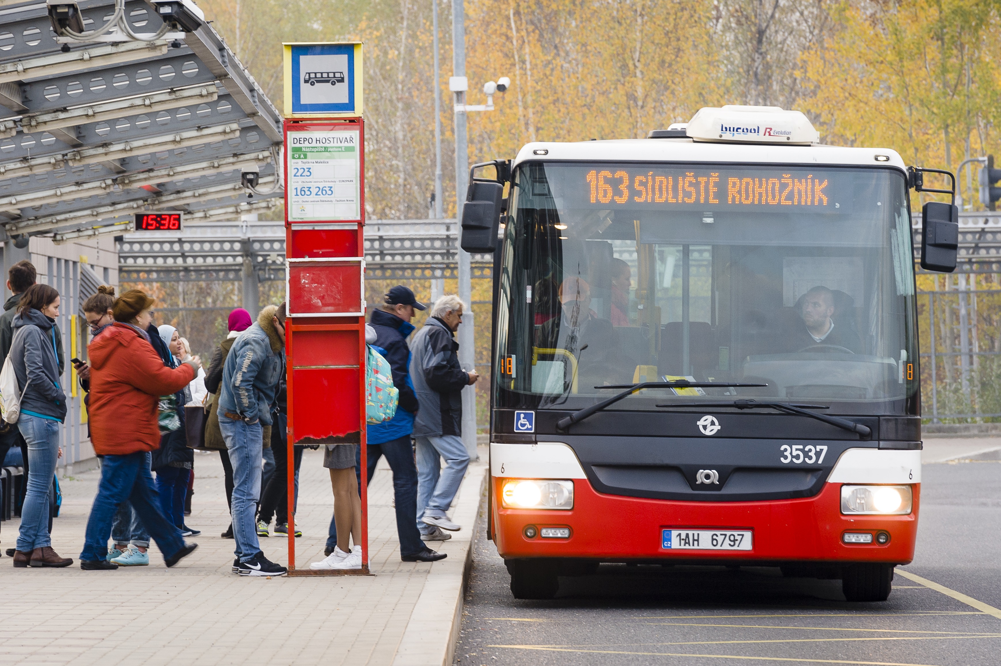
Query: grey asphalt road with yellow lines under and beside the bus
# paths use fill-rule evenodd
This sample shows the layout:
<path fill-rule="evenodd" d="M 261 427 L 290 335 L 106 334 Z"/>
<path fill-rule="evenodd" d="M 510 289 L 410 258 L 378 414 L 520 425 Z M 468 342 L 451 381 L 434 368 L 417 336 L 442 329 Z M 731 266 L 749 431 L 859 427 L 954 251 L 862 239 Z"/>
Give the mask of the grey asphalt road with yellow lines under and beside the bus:
<path fill-rule="evenodd" d="M 1001 664 L 998 462 L 924 466 L 917 554 L 882 603 L 777 569 L 625 565 L 563 578 L 555 600 L 519 601 L 479 520 L 459 666 Z"/>

